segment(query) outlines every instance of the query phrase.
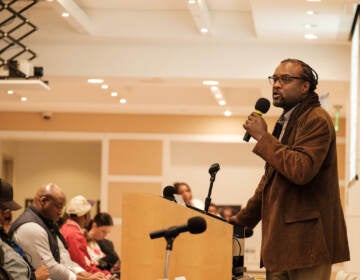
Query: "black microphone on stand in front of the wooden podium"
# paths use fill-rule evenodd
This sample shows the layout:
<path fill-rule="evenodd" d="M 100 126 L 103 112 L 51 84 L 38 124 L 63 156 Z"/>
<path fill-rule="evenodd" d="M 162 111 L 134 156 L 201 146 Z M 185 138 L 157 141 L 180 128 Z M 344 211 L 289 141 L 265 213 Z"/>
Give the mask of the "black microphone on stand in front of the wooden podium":
<path fill-rule="evenodd" d="M 155 239 L 159 237 L 172 238 L 178 236 L 182 232 L 189 231 L 192 234 L 199 234 L 206 230 L 206 221 L 203 217 L 195 216 L 188 219 L 187 224 L 172 226 L 166 229 L 160 229 L 150 232 L 150 238 Z"/>

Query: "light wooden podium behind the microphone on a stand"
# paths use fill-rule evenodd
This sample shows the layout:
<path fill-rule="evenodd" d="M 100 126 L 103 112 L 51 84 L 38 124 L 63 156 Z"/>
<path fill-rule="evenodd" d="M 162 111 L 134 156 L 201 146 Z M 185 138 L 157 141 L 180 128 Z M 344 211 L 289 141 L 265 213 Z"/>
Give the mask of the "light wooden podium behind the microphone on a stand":
<path fill-rule="evenodd" d="M 160 196 L 124 193 L 122 200 L 121 280 L 158 280 L 164 276 L 166 240 L 150 239 L 152 231 L 205 218 L 201 234 L 178 235 L 173 243 L 168 279 L 231 280 L 233 227 L 221 220 Z"/>

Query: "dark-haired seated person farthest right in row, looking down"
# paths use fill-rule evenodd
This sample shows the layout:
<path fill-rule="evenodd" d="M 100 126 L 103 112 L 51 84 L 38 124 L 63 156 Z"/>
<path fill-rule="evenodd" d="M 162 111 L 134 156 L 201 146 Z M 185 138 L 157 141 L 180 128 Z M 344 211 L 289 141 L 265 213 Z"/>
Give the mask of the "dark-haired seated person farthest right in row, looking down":
<path fill-rule="evenodd" d="M 120 272 L 120 259 L 113 243 L 105 239 L 114 225 L 108 213 L 98 213 L 88 226 L 88 253 L 98 267 L 111 273 Z"/>

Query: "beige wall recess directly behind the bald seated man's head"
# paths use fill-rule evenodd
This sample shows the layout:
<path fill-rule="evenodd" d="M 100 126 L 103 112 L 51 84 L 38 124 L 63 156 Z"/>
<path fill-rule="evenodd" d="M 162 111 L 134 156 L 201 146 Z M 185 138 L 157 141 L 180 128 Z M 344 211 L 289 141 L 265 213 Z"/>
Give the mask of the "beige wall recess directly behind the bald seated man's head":
<path fill-rule="evenodd" d="M 58 184 L 68 199 L 78 194 L 100 199 L 100 142 L 13 141 L 12 146 L 14 198 L 21 206 L 48 182 Z"/>

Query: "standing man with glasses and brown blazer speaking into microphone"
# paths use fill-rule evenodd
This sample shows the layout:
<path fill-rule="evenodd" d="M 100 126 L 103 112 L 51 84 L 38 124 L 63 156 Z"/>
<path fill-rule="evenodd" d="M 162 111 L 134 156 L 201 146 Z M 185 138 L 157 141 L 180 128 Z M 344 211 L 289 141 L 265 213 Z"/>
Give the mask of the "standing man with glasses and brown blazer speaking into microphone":
<path fill-rule="evenodd" d="M 261 265 L 267 280 L 329 280 L 331 265 L 350 259 L 340 203 L 336 135 L 315 93 L 318 75 L 286 59 L 269 77 L 283 114 L 273 134 L 252 113 L 243 125 L 266 162 L 245 208 L 231 217 L 254 228 L 262 221 Z"/>

